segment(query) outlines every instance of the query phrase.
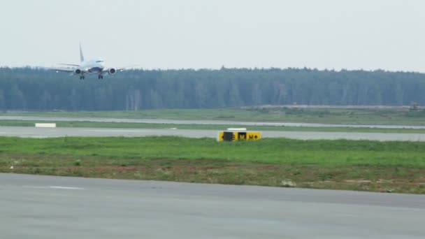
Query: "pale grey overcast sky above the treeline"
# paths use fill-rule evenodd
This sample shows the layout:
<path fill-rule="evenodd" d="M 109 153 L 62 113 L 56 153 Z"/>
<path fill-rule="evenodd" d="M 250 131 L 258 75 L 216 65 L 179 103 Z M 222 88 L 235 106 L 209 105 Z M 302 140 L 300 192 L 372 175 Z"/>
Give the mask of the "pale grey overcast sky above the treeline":
<path fill-rule="evenodd" d="M 143 68 L 310 67 L 425 72 L 425 1 L 15 0 L 0 66 L 103 57 Z"/>

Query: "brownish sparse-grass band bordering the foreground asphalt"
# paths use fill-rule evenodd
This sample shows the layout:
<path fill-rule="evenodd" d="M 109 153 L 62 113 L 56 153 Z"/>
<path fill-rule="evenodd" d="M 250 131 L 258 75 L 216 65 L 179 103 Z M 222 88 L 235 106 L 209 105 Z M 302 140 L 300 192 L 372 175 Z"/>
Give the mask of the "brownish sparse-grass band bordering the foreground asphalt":
<path fill-rule="evenodd" d="M 215 160 L 147 159 L 81 159 L 81 164 L 68 164 L 75 158 L 55 161 L 24 159 L 30 166 L 17 164 L 0 166 L 3 173 L 79 176 L 87 178 L 122 178 L 168 180 L 219 184 L 250 184 L 284 187 L 282 182 L 294 182 L 296 187 L 345 189 L 425 194 L 425 169 L 366 166 L 324 167 L 319 165 L 235 163 Z M 58 166 L 59 164 L 59 166 Z M 139 165 L 131 165 L 139 164 Z M 34 165 L 34 166 L 31 166 Z"/>

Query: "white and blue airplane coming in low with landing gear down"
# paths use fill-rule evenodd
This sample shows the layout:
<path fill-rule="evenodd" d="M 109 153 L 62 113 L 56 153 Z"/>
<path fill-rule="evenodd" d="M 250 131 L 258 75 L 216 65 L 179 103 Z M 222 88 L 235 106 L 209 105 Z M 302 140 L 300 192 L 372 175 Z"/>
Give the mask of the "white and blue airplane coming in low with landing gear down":
<path fill-rule="evenodd" d="M 80 80 L 85 79 L 86 74 L 97 74 L 99 80 L 103 79 L 104 74 L 113 75 L 117 71 L 124 71 L 126 68 L 105 68 L 105 61 L 101 58 L 94 58 L 85 60 L 82 55 L 82 48 L 80 43 L 80 64 L 59 64 L 64 66 L 72 66 L 66 68 L 51 68 L 56 72 L 68 72 L 72 75 L 80 75 Z"/>

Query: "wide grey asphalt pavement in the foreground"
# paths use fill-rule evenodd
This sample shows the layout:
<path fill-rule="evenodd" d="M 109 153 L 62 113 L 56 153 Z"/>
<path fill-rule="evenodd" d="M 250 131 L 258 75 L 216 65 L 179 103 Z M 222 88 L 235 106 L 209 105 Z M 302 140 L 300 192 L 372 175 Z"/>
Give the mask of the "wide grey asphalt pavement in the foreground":
<path fill-rule="evenodd" d="M 425 238 L 425 196 L 0 174 L 1 238 Z"/>

